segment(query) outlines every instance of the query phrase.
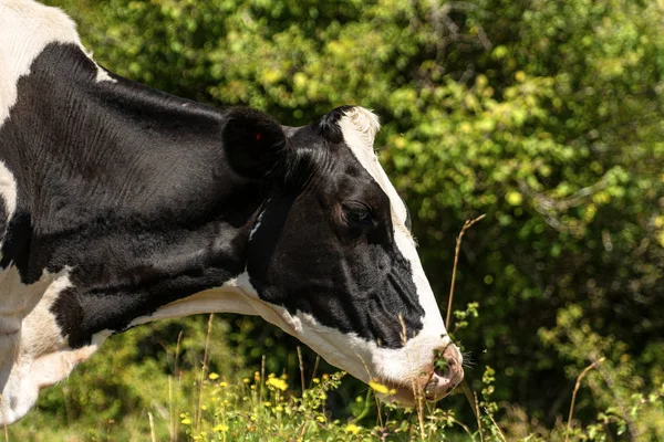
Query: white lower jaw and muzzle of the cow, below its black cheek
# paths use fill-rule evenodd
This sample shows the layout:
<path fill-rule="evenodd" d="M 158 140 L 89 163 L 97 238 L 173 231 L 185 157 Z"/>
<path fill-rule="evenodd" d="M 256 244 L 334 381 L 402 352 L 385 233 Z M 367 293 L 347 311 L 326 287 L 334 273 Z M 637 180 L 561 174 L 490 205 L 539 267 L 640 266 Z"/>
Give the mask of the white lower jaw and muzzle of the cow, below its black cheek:
<path fill-rule="evenodd" d="M 404 337 L 403 347 L 386 348 L 355 334 L 322 325 L 311 314 L 298 312 L 293 315 L 282 306 L 266 303 L 249 283 L 246 273 L 239 280 L 252 314 L 277 325 L 353 377 L 366 383 L 383 385 L 388 391 L 380 394 L 383 400 L 402 406 L 415 404 L 418 397 L 437 400 L 449 393 L 464 377 L 461 355 L 447 337 L 439 314 L 425 316 L 423 329 L 415 337 Z M 450 355 L 448 359 L 455 360 L 449 376 L 440 377 L 434 372 L 436 350 Z"/>

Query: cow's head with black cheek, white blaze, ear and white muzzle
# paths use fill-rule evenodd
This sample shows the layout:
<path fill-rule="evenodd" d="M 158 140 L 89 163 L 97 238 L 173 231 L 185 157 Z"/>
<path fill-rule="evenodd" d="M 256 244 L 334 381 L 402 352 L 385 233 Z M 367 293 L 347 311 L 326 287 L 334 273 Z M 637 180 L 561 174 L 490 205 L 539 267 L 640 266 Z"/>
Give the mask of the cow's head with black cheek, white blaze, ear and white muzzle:
<path fill-rule="evenodd" d="M 407 209 L 374 154 L 378 128 L 362 107 L 297 128 L 245 113 L 230 117 L 225 141 L 245 146 L 230 155 L 237 170 L 269 180 L 247 251 L 257 313 L 412 404 L 414 391 L 439 399 L 464 372 Z"/>

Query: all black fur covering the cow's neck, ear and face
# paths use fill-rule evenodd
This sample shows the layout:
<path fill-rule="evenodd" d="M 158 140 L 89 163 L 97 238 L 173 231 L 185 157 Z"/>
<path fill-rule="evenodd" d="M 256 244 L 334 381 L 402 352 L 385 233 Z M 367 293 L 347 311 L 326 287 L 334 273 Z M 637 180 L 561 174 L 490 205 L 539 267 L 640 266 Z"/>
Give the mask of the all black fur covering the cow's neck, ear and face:
<path fill-rule="evenodd" d="M 79 48 L 49 45 L 0 127 L 18 182 L 0 265 L 27 284 L 72 269 L 52 307 L 72 347 L 246 267 L 262 299 L 343 333 L 400 347 L 397 315 L 422 328 L 390 200 L 344 145 L 346 108 L 287 137 L 259 112 L 96 72 Z M 350 219 L 349 201 L 371 222 Z"/>

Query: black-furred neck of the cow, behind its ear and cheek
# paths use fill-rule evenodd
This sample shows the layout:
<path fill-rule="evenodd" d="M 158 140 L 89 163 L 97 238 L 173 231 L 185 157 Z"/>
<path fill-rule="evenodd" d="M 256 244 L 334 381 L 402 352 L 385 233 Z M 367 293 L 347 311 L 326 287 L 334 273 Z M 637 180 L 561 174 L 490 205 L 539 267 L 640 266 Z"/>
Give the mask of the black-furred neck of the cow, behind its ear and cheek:
<path fill-rule="evenodd" d="M 46 46 L 18 91 L 2 265 L 28 284 L 71 269 L 51 311 L 72 346 L 243 272 L 262 197 L 228 167 L 224 112 L 100 77 L 76 45 Z"/>

